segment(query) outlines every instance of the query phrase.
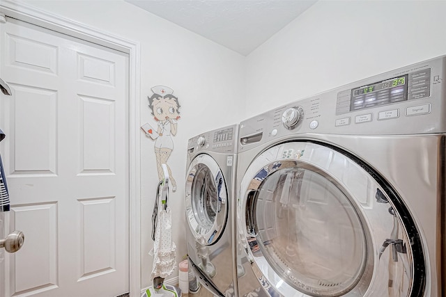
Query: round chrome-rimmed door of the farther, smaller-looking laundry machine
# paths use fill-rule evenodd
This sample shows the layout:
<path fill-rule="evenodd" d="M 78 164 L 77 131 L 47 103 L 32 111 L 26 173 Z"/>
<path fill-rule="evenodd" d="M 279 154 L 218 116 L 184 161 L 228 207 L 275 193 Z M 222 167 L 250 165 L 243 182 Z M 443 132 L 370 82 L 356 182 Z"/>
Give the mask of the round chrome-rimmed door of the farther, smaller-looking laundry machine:
<path fill-rule="evenodd" d="M 187 170 L 185 206 L 190 230 L 202 245 L 220 239 L 228 217 L 227 197 L 217 162 L 208 154 L 196 156 Z"/>

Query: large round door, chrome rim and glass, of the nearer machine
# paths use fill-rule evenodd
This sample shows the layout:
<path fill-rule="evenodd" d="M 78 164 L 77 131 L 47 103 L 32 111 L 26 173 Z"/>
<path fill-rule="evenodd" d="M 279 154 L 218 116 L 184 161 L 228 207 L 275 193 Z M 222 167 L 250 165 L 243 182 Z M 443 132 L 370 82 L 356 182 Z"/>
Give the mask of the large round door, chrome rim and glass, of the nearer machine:
<path fill-rule="evenodd" d="M 260 154 L 241 183 L 238 227 L 271 296 L 422 296 L 415 223 L 384 179 L 311 142 Z"/>

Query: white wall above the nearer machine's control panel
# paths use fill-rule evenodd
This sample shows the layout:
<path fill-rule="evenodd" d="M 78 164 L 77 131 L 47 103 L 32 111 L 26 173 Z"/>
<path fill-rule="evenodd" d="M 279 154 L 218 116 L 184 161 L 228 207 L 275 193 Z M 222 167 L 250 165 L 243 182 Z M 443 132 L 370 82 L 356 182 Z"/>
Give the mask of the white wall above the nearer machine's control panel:
<path fill-rule="evenodd" d="M 247 56 L 246 116 L 446 54 L 446 1 L 318 1 Z"/>

